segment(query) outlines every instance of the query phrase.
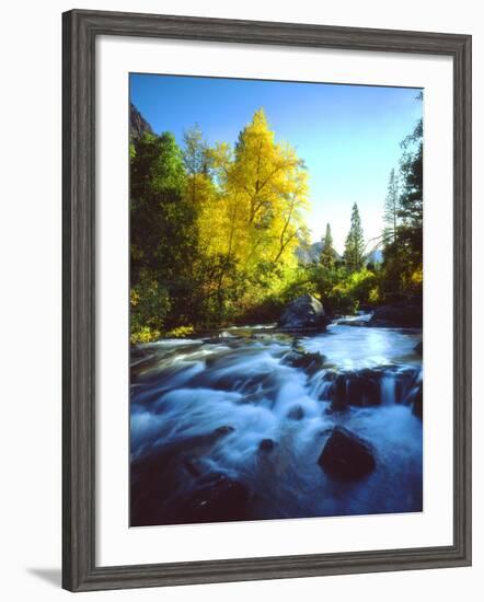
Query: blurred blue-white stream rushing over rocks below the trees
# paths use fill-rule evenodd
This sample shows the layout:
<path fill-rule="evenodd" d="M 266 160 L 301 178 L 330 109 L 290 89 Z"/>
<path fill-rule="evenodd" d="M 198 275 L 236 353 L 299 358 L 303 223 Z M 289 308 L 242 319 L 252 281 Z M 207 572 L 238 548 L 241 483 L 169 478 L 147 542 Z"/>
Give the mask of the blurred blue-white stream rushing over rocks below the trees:
<path fill-rule="evenodd" d="M 422 331 L 369 317 L 131 349 L 130 525 L 422 511 Z M 335 426 L 371 444 L 369 474 L 319 464 Z"/>

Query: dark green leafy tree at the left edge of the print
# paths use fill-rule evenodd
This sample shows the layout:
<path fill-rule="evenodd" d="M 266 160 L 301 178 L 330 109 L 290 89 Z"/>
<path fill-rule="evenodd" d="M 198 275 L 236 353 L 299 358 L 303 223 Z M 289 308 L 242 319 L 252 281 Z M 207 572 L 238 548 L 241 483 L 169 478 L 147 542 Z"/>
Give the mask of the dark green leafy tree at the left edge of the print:
<path fill-rule="evenodd" d="M 186 172 L 173 135 L 146 132 L 135 150 L 130 161 L 131 326 L 150 324 L 154 333 L 193 317 L 196 211 L 186 199 Z M 171 306 L 176 306 L 176 316 L 170 314 Z"/>

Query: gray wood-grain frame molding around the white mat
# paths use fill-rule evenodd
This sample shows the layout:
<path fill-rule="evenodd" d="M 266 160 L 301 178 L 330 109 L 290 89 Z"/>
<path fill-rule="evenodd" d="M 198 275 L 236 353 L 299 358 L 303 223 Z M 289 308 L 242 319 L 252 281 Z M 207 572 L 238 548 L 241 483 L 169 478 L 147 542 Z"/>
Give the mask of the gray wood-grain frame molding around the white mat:
<path fill-rule="evenodd" d="M 64 38 L 62 586 L 71 591 L 310 577 L 471 564 L 471 36 L 74 10 Z M 453 59 L 453 545 L 95 565 L 95 38 L 166 37 L 448 55 Z"/>

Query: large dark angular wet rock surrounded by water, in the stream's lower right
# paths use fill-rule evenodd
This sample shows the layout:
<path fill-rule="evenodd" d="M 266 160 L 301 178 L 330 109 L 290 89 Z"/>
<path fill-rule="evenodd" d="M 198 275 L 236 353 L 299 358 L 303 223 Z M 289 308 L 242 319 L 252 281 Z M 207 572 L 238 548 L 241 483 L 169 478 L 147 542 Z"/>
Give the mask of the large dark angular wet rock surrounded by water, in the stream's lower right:
<path fill-rule="evenodd" d="M 318 464 L 336 478 L 361 478 L 374 470 L 374 450 L 365 439 L 344 427 L 336 426 L 323 448 Z"/>

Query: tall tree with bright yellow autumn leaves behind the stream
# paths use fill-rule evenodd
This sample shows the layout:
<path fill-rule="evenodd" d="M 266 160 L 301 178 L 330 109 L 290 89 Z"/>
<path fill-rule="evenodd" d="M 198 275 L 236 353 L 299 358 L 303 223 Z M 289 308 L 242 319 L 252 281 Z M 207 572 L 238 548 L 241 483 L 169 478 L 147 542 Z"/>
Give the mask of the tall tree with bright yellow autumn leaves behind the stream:
<path fill-rule="evenodd" d="M 280 287 L 288 267 L 296 267 L 293 250 L 307 236 L 308 176 L 296 151 L 276 142 L 263 109 L 233 150 L 221 143 L 211 154 L 219 198 L 201 211 L 206 225 L 200 223 L 199 234 L 210 240 L 220 264 L 217 310 L 230 311 L 256 303 Z"/>

